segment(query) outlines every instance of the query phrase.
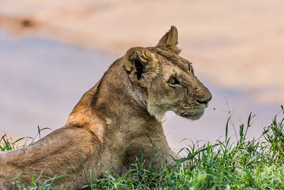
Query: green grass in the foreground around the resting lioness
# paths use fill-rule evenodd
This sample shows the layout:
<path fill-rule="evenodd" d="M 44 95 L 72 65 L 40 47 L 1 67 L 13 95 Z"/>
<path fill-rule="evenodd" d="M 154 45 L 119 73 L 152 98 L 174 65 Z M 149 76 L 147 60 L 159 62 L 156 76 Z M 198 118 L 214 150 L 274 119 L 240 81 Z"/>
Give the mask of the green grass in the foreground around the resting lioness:
<path fill-rule="evenodd" d="M 183 150 L 187 157 L 175 161 L 170 167 L 161 166 L 158 171 L 144 166 L 143 154 L 131 165 L 125 176 L 111 174 L 106 169 L 104 177 L 92 180 L 92 172 L 86 171 L 87 189 L 284 189 L 284 110 L 275 116 L 271 125 L 263 129 L 257 139 L 246 139 L 253 130 L 249 115 L 246 124 L 240 125 L 238 139 L 232 142 L 225 126 L 225 139 L 198 142 Z M 229 118 L 230 119 L 230 118 Z M 17 142 L 17 141 L 16 141 Z M 4 135 L 1 151 L 14 149 L 15 142 Z M 154 144 L 153 144 L 154 145 Z M 143 153 L 143 149 L 141 149 Z M 154 163 L 157 152 L 153 151 Z M 21 176 L 18 176 L 21 177 Z M 13 178 L 13 183 L 18 178 Z M 27 189 L 55 189 L 54 179 L 36 186 L 31 182 Z M 16 184 L 16 188 L 23 187 Z"/>

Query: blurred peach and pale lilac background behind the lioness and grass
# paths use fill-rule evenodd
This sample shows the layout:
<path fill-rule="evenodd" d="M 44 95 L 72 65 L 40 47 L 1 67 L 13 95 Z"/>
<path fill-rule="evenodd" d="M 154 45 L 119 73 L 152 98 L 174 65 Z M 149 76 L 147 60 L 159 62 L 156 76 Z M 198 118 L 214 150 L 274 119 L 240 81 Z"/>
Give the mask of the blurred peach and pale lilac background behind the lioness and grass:
<path fill-rule="evenodd" d="M 155 46 L 176 26 L 183 58 L 213 99 L 197 121 L 168 112 L 170 146 L 249 138 L 284 103 L 284 1 L 0 0 L 0 134 L 62 127 L 84 92 L 133 46 Z M 44 131 L 48 134 L 50 131 Z"/>

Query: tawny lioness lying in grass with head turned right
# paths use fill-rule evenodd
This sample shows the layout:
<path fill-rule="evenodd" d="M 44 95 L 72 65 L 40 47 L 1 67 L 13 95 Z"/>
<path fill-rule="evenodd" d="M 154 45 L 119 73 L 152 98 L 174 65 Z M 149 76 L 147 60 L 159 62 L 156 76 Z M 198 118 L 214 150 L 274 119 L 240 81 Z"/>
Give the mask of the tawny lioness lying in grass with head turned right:
<path fill-rule="evenodd" d="M 28 147 L 0 154 L 0 181 L 31 185 L 33 174 L 53 177 L 61 189 L 78 189 L 87 184 L 84 171 L 98 177 L 108 168 L 119 173 L 140 157 L 151 159 L 151 139 L 158 150 L 156 165 L 170 164 L 175 156 L 163 132 L 161 120 L 167 111 L 197 120 L 211 93 L 193 72 L 192 63 L 178 56 L 175 26 L 155 47 L 130 48 L 116 60 L 81 100 L 64 127 Z M 45 177 L 41 177 L 45 180 Z M 12 184 L 0 184 L 0 189 Z"/>

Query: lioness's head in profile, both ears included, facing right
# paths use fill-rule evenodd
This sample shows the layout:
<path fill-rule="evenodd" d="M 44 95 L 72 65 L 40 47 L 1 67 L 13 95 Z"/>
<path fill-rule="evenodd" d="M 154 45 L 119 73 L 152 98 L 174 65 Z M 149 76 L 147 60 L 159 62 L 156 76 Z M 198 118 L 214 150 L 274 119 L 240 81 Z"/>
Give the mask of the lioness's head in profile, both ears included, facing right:
<path fill-rule="evenodd" d="M 130 48 L 124 67 L 131 80 L 131 94 L 147 107 L 157 120 L 173 111 L 190 120 L 199 119 L 212 95 L 197 79 L 192 63 L 179 56 L 175 26 L 155 47 Z"/>

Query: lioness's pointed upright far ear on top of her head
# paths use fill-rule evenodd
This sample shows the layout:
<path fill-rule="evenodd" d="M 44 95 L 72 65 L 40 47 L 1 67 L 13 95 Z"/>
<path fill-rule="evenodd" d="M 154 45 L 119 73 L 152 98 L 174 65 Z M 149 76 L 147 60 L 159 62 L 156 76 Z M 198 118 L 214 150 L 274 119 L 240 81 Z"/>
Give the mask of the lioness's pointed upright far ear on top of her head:
<path fill-rule="evenodd" d="M 173 51 L 175 53 L 180 53 L 180 49 L 177 47 L 178 45 L 178 29 L 175 28 L 175 26 L 172 26 L 170 28 L 170 31 L 165 33 L 165 35 L 160 38 L 160 41 L 156 47 L 166 47 L 169 48 L 170 51 Z"/>

